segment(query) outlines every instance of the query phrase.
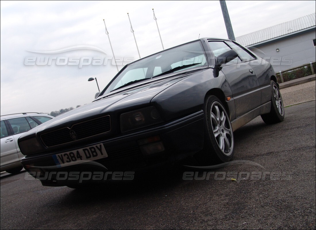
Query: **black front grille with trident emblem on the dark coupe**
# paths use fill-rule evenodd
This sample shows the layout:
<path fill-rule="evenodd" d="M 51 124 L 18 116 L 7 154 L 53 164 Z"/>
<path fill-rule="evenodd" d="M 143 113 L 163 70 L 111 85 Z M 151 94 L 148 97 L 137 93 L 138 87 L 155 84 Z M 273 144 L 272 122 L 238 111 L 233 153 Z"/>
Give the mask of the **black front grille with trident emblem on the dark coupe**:
<path fill-rule="evenodd" d="M 58 146 L 76 140 L 82 140 L 111 130 L 110 116 L 95 118 L 89 121 L 74 124 L 72 127 L 64 127 L 46 134 L 40 135 L 47 147 Z M 70 134 L 72 133 L 72 135 Z"/>

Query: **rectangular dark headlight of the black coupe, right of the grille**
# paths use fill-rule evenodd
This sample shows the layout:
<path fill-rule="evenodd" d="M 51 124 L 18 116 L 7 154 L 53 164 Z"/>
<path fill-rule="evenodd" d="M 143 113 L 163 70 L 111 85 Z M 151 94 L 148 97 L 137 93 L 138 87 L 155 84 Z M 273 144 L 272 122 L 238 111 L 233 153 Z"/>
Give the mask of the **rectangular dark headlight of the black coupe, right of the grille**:
<path fill-rule="evenodd" d="M 122 132 L 154 125 L 161 121 L 158 110 L 154 106 L 123 113 L 120 116 Z"/>

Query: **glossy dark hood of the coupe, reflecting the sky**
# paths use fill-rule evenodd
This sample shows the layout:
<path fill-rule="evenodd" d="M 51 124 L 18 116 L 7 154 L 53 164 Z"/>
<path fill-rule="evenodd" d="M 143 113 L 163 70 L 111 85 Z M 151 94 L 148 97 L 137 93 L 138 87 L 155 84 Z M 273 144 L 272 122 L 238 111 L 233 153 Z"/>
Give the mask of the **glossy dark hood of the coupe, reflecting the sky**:
<path fill-rule="evenodd" d="M 139 108 L 140 105 L 142 107 L 149 106 L 150 101 L 157 94 L 196 72 L 198 71 L 177 74 L 145 83 L 140 82 L 136 85 L 131 85 L 130 88 L 122 91 L 115 90 L 107 95 L 98 97 L 92 103 L 58 115 L 54 119 L 31 129 L 23 136 L 36 134 L 44 129 L 46 131 L 55 130 L 60 127 L 65 127 L 65 124 L 66 126 L 71 127 L 75 123 L 86 120 L 87 117 L 96 118 L 100 117 L 100 114 L 107 115 L 112 112 L 120 113 L 123 111 L 130 111 Z"/>

